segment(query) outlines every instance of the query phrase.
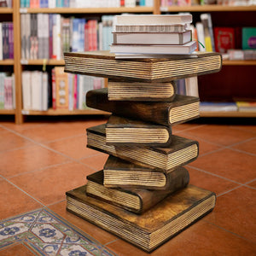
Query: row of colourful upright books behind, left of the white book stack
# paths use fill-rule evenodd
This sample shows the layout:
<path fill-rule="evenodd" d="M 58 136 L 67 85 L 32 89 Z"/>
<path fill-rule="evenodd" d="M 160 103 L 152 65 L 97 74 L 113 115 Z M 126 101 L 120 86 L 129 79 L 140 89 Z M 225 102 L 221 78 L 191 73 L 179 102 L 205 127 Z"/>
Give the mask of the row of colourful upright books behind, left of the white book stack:
<path fill-rule="evenodd" d="M 102 21 L 60 14 L 21 14 L 21 58 L 63 58 L 63 52 L 107 50 L 112 42 L 113 15 Z"/>

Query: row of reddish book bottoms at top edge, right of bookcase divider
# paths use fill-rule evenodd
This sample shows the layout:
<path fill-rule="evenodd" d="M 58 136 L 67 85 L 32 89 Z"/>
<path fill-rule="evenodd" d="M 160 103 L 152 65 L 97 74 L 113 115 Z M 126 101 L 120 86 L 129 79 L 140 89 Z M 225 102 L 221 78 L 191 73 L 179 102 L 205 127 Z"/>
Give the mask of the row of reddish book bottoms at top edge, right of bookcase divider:
<path fill-rule="evenodd" d="M 229 6 L 249 6 L 255 5 L 255 0 L 161 0 L 160 7 L 165 10 L 171 6 L 192 6 L 192 5 L 204 5 L 204 4 L 218 4 Z"/>

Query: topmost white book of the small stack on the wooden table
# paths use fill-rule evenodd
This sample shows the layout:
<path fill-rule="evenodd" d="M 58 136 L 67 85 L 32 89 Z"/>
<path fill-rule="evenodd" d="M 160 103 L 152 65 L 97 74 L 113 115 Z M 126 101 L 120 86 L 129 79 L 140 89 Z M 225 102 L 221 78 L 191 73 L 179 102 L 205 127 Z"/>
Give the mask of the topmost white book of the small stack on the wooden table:
<path fill-rule="evenodd" d="M 116 15 L 116 25 L 173 25 L 192 22 L 192 15 Z"/>

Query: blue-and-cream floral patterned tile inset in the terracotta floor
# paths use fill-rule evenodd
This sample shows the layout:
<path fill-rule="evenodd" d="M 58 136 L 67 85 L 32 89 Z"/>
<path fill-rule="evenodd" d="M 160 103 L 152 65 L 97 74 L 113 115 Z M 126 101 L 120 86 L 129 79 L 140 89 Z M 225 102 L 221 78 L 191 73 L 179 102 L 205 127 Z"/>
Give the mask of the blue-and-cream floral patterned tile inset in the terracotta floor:
<path fill-rule="evenodd" d="M 45 208 L 0 222 L 0 254 L 4 247 L 17 242 L 26 245 L 39 255 L 116 255 Z"/>

